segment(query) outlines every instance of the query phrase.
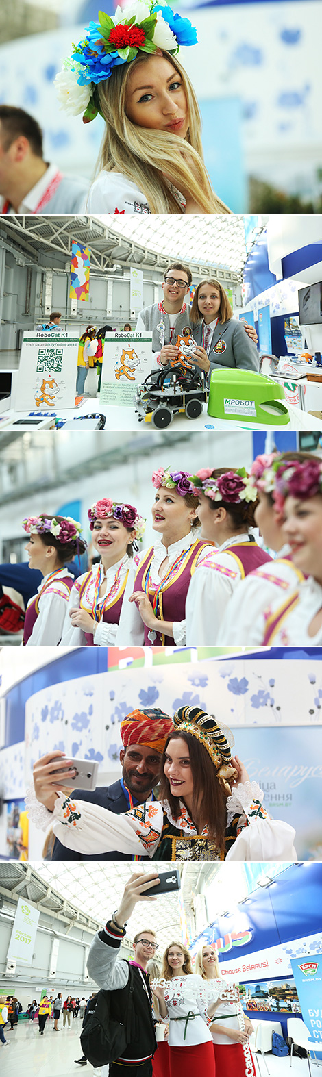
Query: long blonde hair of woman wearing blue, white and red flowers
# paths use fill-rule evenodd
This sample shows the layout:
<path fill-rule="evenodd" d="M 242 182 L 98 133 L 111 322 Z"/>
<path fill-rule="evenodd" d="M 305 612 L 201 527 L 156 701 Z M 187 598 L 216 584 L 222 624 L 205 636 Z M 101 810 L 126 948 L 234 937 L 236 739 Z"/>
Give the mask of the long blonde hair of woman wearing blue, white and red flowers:
<path fill-rule="evenodd" d="M 200 113 L 190 79 L 177 57 L 160 52 L 182 79 L 190 117 L 186 139 L 180 141 L 171 131 L 139 127 L 126 115 L 126 92 L 134 64 L 146 62 L 145 53 L 140 53 L 131 64 L 116 66 L 110 79 L 97 86 L 99 110 L 106 122 L 99 168 L 106 172 L 122 172 L 137 183 L 152 213 L 184 212 L 164 171 L 171 176 L 179 191 L 183 181 L 190 197 L 200 206 L 200 213 L 230 213 L 212 191 L 205 168 Z"/>

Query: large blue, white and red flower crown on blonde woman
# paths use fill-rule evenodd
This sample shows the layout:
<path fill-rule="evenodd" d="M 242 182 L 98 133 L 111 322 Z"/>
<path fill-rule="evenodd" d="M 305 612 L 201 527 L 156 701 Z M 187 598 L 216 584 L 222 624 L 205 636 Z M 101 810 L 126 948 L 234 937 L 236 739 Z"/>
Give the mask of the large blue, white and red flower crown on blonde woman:
<path fill-rule="evenodd" d="M 84 112 L 85 124 L 100 112 L 97 83 L 109 79 L 116 65 L 130 64 L 139 51 L 150 55 L 159 48 L 173 56 L 180 45 L 197 41 L 190 19 L 158 0 L 132 0 L 123 10 L 116 8 L 115 15 L 100 11 L 98 18 L 85 28 L 86 37 L 73 45 L 55 78 L 60 108 L 72 116 Z"/>

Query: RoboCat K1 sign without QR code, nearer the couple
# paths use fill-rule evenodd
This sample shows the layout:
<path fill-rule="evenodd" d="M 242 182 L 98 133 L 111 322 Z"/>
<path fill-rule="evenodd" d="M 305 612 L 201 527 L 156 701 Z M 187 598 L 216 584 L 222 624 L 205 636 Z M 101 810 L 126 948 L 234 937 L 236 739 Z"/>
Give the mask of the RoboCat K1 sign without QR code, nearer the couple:
<path fill-rule="evenodd" d="M 132 407 L 137 386 L 141 386 L 155 366 L 152 333 L 107 333 L 103 350 L 100 404 Z"/>

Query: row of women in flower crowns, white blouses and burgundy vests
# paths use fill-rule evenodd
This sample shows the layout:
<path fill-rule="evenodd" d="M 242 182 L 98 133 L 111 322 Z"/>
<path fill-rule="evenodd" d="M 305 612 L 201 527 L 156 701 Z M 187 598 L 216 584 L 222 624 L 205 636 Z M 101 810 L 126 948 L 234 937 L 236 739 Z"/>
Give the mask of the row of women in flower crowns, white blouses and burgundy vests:
<path fill-rule="evenodd" d="M 85 551 L 80 523 L 24 520 L 30 568 L 43 574 L 25 644 L 321 642 L 319 457 L 257 457 L 250 474 L 159 467 L 152 481 L 154 545 L 139 551 L 145 521 L 135 506 L 102 498 L 88 509 L 100 560 L 75 582 L 66 565 Z"/>

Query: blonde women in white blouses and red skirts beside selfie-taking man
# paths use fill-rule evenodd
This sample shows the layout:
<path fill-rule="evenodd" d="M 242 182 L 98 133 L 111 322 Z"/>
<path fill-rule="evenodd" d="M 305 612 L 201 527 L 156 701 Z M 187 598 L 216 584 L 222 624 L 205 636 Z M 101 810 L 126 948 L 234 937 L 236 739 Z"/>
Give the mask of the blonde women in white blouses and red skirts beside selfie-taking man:
<path fill-rule="evenodd" d="M 160 973 L 156 963 L 150 964 L 154 1016 L 169 1022 L 168 1039 L 158 1040 L 153 1077 L 195 1077 L 201 1072 L 207 1077 L 254 1077 L 249 1047 L 253 1025 L 243 1015 L 238 984 L 220 975 L 215 948 L 201 947 L 195 971 L 181 942 L 167 947 Z"/>

